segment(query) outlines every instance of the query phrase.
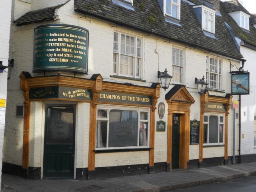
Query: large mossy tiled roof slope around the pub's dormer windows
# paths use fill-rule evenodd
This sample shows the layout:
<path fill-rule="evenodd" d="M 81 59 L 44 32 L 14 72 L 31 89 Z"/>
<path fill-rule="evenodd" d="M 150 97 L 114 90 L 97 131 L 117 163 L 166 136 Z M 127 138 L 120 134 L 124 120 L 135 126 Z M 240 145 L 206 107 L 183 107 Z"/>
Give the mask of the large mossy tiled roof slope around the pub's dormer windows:
<path fill-rule="evenodd" d="M 221 16 L 216 15 L 216 40 L 204 35 L 193 8 L 186 0 L 181 0 L 182 27 L 165 21 L 158 0 L 134 0 L 133 7 L 135 11 L 117 6 L 112 0 L 74 0 L 76 12 L 223 56 L 242 58 Z"/>

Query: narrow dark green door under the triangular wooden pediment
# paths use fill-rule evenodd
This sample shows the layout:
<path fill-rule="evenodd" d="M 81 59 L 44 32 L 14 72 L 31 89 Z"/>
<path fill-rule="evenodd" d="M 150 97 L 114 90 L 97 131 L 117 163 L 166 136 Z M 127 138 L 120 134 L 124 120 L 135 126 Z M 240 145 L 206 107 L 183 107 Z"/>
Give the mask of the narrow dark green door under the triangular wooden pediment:
<path fill-rule="evenodd" d="M 180 115 L 172 116 L 172 169 L 180 167 Z"/>

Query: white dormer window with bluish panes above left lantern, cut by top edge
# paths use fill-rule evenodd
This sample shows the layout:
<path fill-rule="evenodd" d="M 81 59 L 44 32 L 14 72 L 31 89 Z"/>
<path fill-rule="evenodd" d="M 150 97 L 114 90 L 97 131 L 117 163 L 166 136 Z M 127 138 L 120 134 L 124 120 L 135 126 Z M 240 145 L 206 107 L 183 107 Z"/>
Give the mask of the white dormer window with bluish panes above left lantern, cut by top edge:
<path fill-rule="evenodd" d="M 164 14 L 180 20 L 180 0 L 164 0 Z"/>

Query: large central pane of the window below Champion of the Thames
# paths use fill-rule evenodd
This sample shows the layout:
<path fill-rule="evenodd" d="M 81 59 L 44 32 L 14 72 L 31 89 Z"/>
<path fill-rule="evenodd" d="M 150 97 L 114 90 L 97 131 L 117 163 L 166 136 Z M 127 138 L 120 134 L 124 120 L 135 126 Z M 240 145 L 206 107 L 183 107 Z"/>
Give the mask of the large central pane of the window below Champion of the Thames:
<path fill-rule="evenodd" d="M 109 112 L 109 147 L 137 146 L 138 112 L 111 110 Z"/>

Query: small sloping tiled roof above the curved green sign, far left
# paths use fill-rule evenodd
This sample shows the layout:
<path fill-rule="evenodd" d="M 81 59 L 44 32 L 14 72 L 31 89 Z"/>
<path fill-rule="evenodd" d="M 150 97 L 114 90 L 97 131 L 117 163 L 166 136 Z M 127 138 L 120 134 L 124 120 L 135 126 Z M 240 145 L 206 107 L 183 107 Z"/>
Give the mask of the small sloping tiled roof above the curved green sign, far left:
<path fill-rule="evenodd" d="M 23 16 L 15 20 L 14 22 L 16 23 L 17 26 L 21 26 L 21 25 L 26 25 L 31 23 L 54 20 L 55 10 L 61 7 L 62 5 L 63 4 L 27 12 L 26 14 L 24 14 Z"/>

